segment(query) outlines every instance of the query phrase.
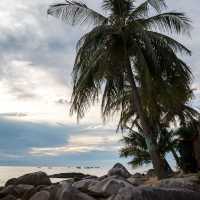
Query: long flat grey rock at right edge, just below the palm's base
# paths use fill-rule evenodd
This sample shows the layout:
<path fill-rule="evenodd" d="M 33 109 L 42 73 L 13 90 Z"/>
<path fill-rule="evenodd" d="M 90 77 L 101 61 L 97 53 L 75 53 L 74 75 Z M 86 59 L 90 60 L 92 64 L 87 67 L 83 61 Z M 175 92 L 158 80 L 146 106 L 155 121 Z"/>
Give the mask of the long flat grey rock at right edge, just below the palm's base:
<path fill-rule="evenodd" d="M 196 175 L 183 178 L 163 179 L 158 183 L 158 186 L 164 188 L 185 188 L 200 192 L 200 183 Z"/>

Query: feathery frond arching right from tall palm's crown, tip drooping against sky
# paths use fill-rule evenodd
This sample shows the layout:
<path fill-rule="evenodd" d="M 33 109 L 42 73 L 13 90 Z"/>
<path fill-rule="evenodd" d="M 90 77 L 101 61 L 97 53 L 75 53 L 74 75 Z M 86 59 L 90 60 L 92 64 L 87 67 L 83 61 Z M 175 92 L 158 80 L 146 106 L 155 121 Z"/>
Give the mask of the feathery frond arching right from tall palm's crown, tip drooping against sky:
<path fill-rule="evenodd" d="M 184 13 L 168 12 L 162 13 L 148 19 L 140 20 L 149 29 L 158 29 L 169 33 L 187 33 L 191 28 L 191 20 Z"/>

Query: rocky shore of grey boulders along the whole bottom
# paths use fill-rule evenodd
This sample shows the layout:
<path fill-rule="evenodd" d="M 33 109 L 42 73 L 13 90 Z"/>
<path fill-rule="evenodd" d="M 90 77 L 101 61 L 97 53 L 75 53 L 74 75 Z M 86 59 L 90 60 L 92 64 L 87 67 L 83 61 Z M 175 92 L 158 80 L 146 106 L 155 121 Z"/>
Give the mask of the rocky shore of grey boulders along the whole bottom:
<path fill-rule="evenodd" d="M 67 178 L 56 184 L 50 177 Z M 130 174 L 116 164 L 103 177 L 77 173 L 48 176 L 26 174 L 0 188 L 0 200 L 200 200 L 197 175 L 176 175 L 157 180 L 151 173 Z"/>

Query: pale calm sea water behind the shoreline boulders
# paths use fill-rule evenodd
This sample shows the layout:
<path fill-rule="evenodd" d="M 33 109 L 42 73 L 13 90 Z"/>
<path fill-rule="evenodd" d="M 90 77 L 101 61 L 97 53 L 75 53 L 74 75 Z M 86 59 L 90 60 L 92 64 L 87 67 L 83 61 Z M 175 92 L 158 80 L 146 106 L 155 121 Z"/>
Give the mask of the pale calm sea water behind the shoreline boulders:
<path fill-rule="evenodd" d="M 21 175 L 31 172 L 43 171 L 46 172 L 48 175 L 57 173 L 66 173 L 66 172 L 81 172 L 84 174 L 102 176 L 105 175 L 111 167 L 92 168 L 92 169 L 91 168 L 85 169 L 81 167 L 81 169 L 78 169 L 76 167 L 6 167 L 6 166 L 1 167 L 0 166 L 0 186 L 3 186 L 5 182 L 10 178 L 17 178 Z M 137 170 L 133 170 L 130 167 L 127 168 L 131 173 L 134 174 L 136 172 L 146 172 L 149 167 L 140 168 Z M 61 181 L 61 179 L 52 179 L 52 182 L 59 182 L 59 181 Z"/>

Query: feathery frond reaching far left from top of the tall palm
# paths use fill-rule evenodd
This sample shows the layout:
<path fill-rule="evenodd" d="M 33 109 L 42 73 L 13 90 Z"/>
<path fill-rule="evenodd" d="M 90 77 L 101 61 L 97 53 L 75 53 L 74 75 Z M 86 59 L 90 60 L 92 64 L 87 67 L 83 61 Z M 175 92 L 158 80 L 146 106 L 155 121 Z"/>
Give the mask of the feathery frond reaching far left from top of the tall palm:
<path fill-rule="evenodd" d="M 67 1 L 50 5 L 47 13 L 71 24 L 92 23 L 99 25 L 106 23 L 107 18 L 102 14 L 88 8 L 86 4 L 78 1 Z"/>

